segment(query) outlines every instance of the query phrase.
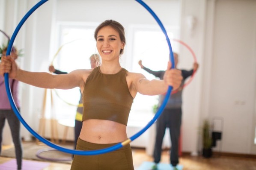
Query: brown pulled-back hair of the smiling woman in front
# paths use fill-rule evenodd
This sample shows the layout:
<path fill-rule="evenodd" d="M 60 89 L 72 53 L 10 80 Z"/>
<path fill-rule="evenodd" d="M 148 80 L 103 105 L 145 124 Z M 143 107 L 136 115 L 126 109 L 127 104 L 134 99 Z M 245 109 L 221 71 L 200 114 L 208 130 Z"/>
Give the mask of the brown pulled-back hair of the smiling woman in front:
<path fill-rule="evenodd" d="M 113 29 L 115 29 L 119 33 L 121 41 L 125 44 L 125 42 L 126 42 L 125 41 L 125 29 L 121 23 L 114 21 L 114 20 L 106 20 L 106 21 L 102 22 L 95 29 L 94 38 L 96 41 L 97 41 L 97 35 L 98 35 L 99 30 L 105 26 L 111 26 Z M 121 49 L 119 54 L 122 54 L 122 53 L 124 53 L 124 49 Z"/>

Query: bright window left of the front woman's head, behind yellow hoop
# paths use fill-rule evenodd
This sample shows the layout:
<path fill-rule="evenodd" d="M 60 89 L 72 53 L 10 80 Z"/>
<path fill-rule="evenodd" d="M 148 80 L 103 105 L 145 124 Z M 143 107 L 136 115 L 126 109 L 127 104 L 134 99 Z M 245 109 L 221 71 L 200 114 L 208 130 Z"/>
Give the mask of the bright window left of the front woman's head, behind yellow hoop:
<path fill-rule="evenodd" d="M 56 38 L 59 40 L 56 43 L 58 47 L 54 50 L 54 54 L 58 50 L 59 52 L 53 59 L 55 69 L 69 73 L 72 70 L 89 69 L 91 67 L 89 57 L 98 53 L 94 39 L 96 26 L 98 24 L 60 23 L 57 30 L 59 38 Z M 74 120 L 80 100 L 80 89 L 55 89 L 53 90 L 53 97 L 54 108 L 51 108 L 51 111 L 55 112 L 57 120 Z M 48 101 L 51 101 L 51 99 L 48 98 Z M 48 113 L 46 117 L 51 117 L 51 115 Z"/>

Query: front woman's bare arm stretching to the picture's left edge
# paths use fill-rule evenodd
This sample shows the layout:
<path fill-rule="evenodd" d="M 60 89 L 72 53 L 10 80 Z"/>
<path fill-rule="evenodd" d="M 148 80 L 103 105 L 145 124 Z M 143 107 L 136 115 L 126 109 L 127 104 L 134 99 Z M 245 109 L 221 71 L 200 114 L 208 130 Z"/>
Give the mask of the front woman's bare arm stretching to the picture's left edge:
<path fill-rule="evenodd" d="M 2 57 L 0 75 L 9 73 L 9 78 L 33 85 L 39 88 L 71 89 L 83 85 L 84 70 L 74 70 L 68 74 L 53 75 L 46 72 L 30 72 L 18 68 L 11 57 Z"/>

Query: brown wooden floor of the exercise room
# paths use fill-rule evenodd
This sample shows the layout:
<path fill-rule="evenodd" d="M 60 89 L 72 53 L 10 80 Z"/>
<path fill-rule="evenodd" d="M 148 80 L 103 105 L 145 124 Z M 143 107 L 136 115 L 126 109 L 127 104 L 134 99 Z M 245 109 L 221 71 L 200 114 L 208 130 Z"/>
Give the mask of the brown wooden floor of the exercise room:
<path fill-rule="evenodd" d="M 13 146 L 3 146 L 2 149 L 8 149 Z M 145 149 L 132 148 L 135 170 L 140 167 L 144 161 L 153 161 L 153 158 L 146 155 Z M 0 164 L 11 160 L 12 158 L 0 157 Z M 169 152 L 162 152 L 162 163 L 169 164 Z M 202 156 L 191 156 L 183 154 L 180 159 L 183 170 L 256 170 L 256 158 L 241 158 L 232 156 L 213 155 L 211 158 Z M 70 164 L 51 163 L 49 167 L 43 170 L 70 170 Z"/>

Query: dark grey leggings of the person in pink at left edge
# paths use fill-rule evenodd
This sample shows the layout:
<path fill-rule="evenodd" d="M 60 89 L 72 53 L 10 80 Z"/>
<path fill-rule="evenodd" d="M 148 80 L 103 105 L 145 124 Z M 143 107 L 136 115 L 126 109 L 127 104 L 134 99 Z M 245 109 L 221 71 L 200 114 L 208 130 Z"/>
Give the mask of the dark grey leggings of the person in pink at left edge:
<path fill-rule="evenodd" d="M 12 141 L 15 147 L 17 166 L 18 166 L 18 169 L 20 170 L 21 161 L 22 161 L 22 146 L 21 146 L 21 137 L 20 137 L 21 123 L 12 110 L 0 110 L 0 152 L 1 152 L 1 144 L 3 139 L 3 127 L 6 119 L 11 129 Z"/>

